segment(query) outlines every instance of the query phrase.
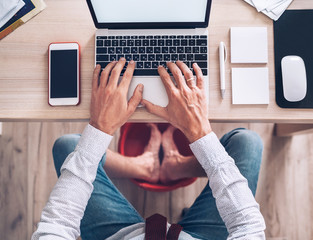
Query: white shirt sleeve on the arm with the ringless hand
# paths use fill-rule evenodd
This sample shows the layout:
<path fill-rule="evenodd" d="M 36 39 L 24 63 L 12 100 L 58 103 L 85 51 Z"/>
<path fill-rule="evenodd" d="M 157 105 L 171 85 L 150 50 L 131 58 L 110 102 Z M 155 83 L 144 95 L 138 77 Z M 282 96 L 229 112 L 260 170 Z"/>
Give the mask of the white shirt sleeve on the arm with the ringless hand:
<path fill-rule="evenodd" d="M 61 176 L 42 211 L 32 240 L 77 239 L 80 221 L 93 191 L 99 162 L 112 136 L 87 125 L 75 151 L 61 168 Z M 77 187 L 79 186 L 79 187 Z"/>

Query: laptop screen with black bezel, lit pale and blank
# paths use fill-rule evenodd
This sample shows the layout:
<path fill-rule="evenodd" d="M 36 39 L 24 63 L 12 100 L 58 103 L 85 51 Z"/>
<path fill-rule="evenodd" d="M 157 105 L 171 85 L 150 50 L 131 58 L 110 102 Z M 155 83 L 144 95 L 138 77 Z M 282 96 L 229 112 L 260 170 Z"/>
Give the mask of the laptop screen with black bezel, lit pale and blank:
<path fill-rule="evenodd" d="M 87 0 L 97 28 L 207 27 L 211 0 Z"/>

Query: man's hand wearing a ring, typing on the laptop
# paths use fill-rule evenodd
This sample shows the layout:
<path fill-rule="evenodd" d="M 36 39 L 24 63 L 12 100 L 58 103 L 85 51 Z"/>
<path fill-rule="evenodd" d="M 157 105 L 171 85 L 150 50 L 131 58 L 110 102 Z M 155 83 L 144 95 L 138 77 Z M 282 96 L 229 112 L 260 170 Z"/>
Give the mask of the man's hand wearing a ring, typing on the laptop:
<path fill-rule="evenodd" d="M 212 131 L 208 120 L 202 71 L 197 64 L 193 65 L 197 77 L 196 84 L 192 72 L 183 62 L 168 63 L 167 66 L 177 84 L 174 85 L 166 69 L 160 66 L 158 72 L 169 98 L 167 107 L 156 106 L 147 100 L 141 102 L 150 113 L 164 118 L 179 128 L 190 142 L 194 142 Z"/>

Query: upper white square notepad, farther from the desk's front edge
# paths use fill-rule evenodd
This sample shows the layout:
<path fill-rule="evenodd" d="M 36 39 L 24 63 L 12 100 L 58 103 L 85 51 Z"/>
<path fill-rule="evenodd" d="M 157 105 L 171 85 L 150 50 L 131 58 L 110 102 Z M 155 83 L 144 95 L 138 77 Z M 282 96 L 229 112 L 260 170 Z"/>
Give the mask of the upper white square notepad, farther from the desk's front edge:
<path fill-rule="evenodd" d="M 266 27 L 232 27 L 230 38 L 232 63 L 268 62 Z"/>

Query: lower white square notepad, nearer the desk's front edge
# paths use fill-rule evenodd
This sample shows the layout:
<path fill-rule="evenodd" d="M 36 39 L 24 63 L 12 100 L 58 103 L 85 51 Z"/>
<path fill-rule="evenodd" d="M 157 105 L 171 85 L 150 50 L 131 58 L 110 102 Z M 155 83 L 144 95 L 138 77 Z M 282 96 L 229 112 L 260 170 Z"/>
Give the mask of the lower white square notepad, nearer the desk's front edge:
<path fill-rule="evenodd" d="M 269 104 L 268 68 L 232 68 L 233 104 Z"/>

